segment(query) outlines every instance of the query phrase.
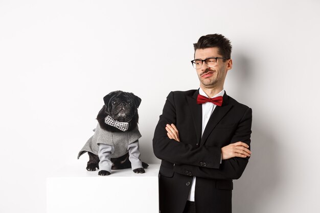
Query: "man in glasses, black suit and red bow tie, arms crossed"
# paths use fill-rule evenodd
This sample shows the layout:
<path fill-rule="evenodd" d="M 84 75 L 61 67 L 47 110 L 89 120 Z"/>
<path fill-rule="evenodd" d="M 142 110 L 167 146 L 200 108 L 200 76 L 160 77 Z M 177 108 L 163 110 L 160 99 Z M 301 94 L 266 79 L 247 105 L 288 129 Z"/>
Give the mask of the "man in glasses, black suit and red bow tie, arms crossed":
<path fill-rule="evenodd" d="M 220 34 L 194 43 L 200 88 L 170 92 L 155 128 L 161 213 L 230 213 L 233 179 L 250 157 L 252 109 L 223 89 L 231 43 Z"/>

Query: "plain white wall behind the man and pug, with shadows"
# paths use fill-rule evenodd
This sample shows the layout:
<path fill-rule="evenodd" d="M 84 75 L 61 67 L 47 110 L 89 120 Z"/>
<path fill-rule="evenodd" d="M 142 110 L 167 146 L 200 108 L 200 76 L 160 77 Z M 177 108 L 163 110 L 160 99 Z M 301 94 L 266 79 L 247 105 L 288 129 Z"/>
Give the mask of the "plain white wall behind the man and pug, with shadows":
<path fill-rule="evenodd" d="M 212 33 L 233 45 L 227 94 L 253 109 L 234 212 L 320 212 L 319 10 L 316 0 L 0 1 L 0 212 L 45 211 L 45 178 L 76 160 L 113 90 L 142 98 L 142 159 L 159 162 L 158 116 L 171 90 L 198 88 L 193 43 Z"/>

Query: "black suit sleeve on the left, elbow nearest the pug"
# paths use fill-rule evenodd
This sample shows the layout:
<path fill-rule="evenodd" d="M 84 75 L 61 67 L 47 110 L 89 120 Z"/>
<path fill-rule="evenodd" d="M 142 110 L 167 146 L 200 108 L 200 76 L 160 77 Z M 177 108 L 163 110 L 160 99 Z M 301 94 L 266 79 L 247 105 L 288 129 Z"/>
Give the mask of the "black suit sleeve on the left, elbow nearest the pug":
<path fill-rule="evenodd" d="M 207 168 L 219 168 L 221 160 L 221 149 L 218 147 L 195 147 L 191 143 L 182 143 L 170 139 L 165 129 L 166 124 L 176 124 L 176 108 L 174 104 L 174 93 L 170 92 L 162 115 L 154 131 L 153 152 L 162 160 L 175 164 L 199 165 L 199 162 L 208 163 Z"/>

